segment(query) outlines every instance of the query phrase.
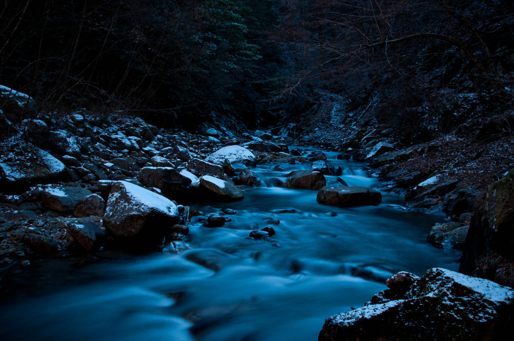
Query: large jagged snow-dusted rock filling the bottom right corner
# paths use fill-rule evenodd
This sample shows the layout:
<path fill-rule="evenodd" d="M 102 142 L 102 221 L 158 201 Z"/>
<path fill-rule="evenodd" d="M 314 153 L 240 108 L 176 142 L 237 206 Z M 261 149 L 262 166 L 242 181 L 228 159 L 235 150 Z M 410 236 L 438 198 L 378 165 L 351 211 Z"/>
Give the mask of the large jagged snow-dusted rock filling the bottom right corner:
<path fill-rule="evenodd" d="M 318 340 L 511 339 L 514 290 L 440 268 L 401 278 L 405 286 L 389 281 L 364 307 L 327 318 Z"/>

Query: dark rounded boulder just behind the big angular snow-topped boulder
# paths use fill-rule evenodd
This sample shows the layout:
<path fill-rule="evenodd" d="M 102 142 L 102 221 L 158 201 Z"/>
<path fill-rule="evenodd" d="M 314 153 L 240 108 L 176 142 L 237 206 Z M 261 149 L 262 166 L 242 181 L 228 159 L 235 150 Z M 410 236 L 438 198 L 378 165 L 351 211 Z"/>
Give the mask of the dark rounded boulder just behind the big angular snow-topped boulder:
<path fill-rule="evenodd" d="M 186 195 L 190 192 L 192 180 L 171 167 L 143 167 L 137 179 L 145 186 L 156 187 L 165 197 Z"/>

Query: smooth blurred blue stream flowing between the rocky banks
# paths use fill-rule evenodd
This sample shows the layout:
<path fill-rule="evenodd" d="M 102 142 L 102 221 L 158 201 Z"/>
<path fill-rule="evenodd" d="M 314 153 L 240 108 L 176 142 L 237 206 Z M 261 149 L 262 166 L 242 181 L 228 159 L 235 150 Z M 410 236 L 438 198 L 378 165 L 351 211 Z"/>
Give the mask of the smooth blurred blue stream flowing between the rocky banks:
<path fill-rule="evenodd" d="M 362 164 L 326 155 L 348 185 L 378 185 Z M 397 271 L 457 270 L 457 254 L 426 243 L 436 217 L 406 211 L 398 196 L 347 209 L 318 204 L 314 190 L 271 186 L 309 165 L 259 165 L 268 187 L 192 204 L 204 216 L 237 213 L 221 228 L 196 218 L 180 255 L 101 250 L 33 262 L 9 279 L 19 289 L 0 304 L 0 339 L 313 341 L 326 317 L 361 307 Z M 248 238 L 266 226 L 272 241 Z"/>

